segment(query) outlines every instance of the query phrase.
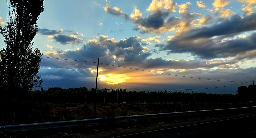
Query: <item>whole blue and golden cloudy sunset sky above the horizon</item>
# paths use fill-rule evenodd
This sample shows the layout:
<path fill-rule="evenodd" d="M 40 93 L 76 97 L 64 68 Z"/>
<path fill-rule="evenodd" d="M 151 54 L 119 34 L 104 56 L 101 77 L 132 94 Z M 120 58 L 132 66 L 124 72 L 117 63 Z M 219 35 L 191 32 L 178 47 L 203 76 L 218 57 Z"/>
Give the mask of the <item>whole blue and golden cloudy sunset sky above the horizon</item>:
<path fill-rule="evenodd" d="M 235 94 L 237 87 L 256 79 L 256 0 L 43 4 L 33 39 L 33 47 L 43 54 L 41 86 L 58 80 L 70 81 L 69 87 L 95 83 L 98 58 L 98 83 L 127 89 Z M 6 1 L 1 0 L 2 27 L 7 14 Z M 4 48 L 2 35 L 0 41 Z"/>

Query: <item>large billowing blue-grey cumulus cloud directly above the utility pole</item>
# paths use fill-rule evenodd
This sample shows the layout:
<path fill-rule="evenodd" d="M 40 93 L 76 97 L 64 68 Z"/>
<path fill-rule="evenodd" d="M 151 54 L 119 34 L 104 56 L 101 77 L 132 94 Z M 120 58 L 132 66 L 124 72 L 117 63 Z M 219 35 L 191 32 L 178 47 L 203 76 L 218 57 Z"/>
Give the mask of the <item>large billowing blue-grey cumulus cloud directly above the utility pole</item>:
<path fill-rule="evenodd" d="M 99 57 L 102 63 L 125 66 L 135 63 L 137 64 L 138 62 L 146 60 L 148 56 L 152 55 L 150 51 L 145 50 L 145 48 L 140 44 L 140 41 L 137 40 L 136 36 L 117 41 L 114 39 L 109 39 L 108 36 L 104 35 L 100 35 L 98 40 L 88 40 L 87 44 L 84 44 L 76 51 L 63 51 L 57 49 L 54 52 L 46 52 L 46 54 L 52 57 L 84 61 L 95 61 L 95 59 Z M 50 63 L 43 62 L 42 66 L 45 66 L 45 64 Z M 56 62 L 52 64 L 55 65 Z M 74 65 L 60 63 L 56 66 L 63 66 L 66 68 Z M 87 63 L 77 63 L 75 67 L 81 68 L 87 66 Z"/>

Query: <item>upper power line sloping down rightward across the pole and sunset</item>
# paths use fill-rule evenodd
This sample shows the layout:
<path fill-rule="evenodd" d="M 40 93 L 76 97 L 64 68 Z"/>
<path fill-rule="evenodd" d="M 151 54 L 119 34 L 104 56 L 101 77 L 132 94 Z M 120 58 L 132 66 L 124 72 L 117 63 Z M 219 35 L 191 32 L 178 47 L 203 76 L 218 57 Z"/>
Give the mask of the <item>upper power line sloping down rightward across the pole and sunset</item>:
<path fill-rule="evenodd" d="M 41 57 L 43 57 L 43 56 L 41 56 Z M 53 58 L 53 57 L 44 57 L 44 58 Z M 79 62 L 97 63 L 97 62 L 82 61 L 82 60 L 63 59 L 63 58 L 53 58 L 53 59 L 62 59 L 62 60 L 71 60 L 71 61 L 79 61 Z M 115 67 L 120 67 L 120 68 L 133 69 L 133 70 L 139 70 L 139 71 L 145 71 L 145 72 L 151 72 L 151 73 L 158 73 L 158 74 L 172 75 L 172 76 L 178 76 L 178 77 L 193 78 L 193 79 L 202 79 L 202 80 L 211 80 L 211 81 L 222 81 L 222 82 L 242 82 L 242 81 L 225 81 L 225 80 L 215 80 L 215 79 L 205 79 L 205 78 L 181 76 L 181 75 L 160 73 L 160 72 L 154 72 L 154 71 L 148 71 L 148 70 L 142 70 L 142 69 L 134 69 L 134 68 L 129 68 L 129 67 L 122 67 L 122 66 L 111 65 L 111 64 L 105 64 L 105 63 L 99 63 L 99 64 L 108 65 L 108 66 L 115 66 Z M 247 82 L 242 82 L 242 83 L 247 83 Z"/>

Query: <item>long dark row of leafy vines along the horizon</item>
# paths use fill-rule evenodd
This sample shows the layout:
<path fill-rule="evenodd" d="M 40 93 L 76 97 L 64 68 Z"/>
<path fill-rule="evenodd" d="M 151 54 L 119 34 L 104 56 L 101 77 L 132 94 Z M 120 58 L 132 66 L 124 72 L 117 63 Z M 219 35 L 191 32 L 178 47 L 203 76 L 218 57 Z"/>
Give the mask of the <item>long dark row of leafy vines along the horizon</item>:
<path fill-rule="evenodd" d="M 138 103 L 138 102 L 245 102 L 256 101 L 255 95 L 211 94 L 199 92 L 171 91 L 127 91 L 126 89 L 97 90 L 81 88 L 48 88 L 32 90 L 27 100 L 48 101 L 53 103 Z"/>

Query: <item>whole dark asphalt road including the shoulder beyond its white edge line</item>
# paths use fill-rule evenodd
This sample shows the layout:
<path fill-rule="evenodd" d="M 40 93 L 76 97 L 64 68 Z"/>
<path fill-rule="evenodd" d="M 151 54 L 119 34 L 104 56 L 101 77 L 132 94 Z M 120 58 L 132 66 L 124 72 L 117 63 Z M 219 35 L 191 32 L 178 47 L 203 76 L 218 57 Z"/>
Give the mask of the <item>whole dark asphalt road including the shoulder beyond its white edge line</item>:
<path fill-rule="evenodd" d="M 256 137 L 256 115 L 236 116 L 232 118 L 191 120 L 145 126 L 139 128 L 114 129 L 107 132 L 92 132 L 67 137 L 79 138 L 222 138 Z"/>

